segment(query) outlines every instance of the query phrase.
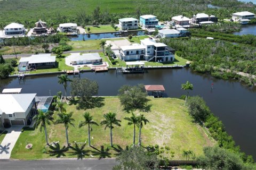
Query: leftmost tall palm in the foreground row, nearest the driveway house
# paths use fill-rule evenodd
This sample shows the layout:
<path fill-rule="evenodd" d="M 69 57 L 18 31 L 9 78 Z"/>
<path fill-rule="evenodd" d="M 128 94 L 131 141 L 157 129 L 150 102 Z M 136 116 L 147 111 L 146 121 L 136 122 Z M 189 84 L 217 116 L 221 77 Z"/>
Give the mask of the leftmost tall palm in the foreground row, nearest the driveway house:
<path fill-rule="evenodd" d="M 47 138 L 46 124 L 50 125 L 53 121 L 52 114 L 53 113 L 51 111 L 47 111 L 46 113 L 44 113 L 43 111 L 38 110 L 38 114 L 33 117 L 33 120 L 35 120 L 36 128 L 40 126 L 40 132 L 42 131 L 42 127 L 44 128 L 45 140 L 47 145 L 49 145 L 49 143 Z"/>

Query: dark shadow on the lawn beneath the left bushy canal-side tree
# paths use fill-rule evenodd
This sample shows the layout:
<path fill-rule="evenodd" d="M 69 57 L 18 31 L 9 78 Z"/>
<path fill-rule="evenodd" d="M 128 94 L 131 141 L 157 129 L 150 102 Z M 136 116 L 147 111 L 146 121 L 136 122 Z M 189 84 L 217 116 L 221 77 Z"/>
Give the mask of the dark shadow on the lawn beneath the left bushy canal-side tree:
<path fill-rule="evenodd" d="M 100 108 L 104 106 L 104 98 L 103 97 L 89 97 L 85 101 L 79 100 L 77 109 L 91 109 L 91 108 Z"/>

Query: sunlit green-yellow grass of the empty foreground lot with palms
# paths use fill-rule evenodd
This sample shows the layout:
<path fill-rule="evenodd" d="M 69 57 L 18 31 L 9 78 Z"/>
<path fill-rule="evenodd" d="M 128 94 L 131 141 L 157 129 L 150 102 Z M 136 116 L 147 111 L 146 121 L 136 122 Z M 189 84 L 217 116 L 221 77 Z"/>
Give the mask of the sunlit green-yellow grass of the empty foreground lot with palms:
<path fill-rule="evenodd" d="M 204 146 L 212 146 L 214 141 L 210 140 L 205 130 L 193 123 L 193 119 L 187 113 L 187 107 L 184 106 L 184 101 L 173 98 L 151 98 L 151 112 L 145 113 L 149 123 L 143 126 L 142 129 L 142 145 L 163 146 L 164 143 L 174 151 L 174 159 L 185 159 L 182 157 L 183 150 L 192 150 L 198 156 L 203 153 Z M 100 108 L 87 109 L 93 115 L 94 121 L 100 123 L 103 120 L 103 114 L 108 112 L 117 113 L 117 118 L 121 120 L 121 127 L 113 129 L 113 141 L 115 148 L 118 146 L 125 149 L 126 146 L 132 145 L 132 126 L 127 125 L 124 117 L 130 116 L 122 111 L 119 99 L 117 97 L 104 97 L 104 105 Z M 85 142 L 87 140 L 86 126 L 79 129 L 78 123 L 83 120 L 84 110 L 76 109 L 76 105 L 69 105 L 67 112 L 73 112 L 75 119 L 74 127 L 69 127 L 69 141 L 74 147 L 73 141 Z M 139 114 L 135 112 L 135 114 Z M 54 118 L 56 113 L 54 113 Z M 136 142 L 138 142 L 138 128 L 136 129 Z M 78 158 L 78 157 L 115 157 L 118 155 L 118 150 L 109 146 L 109 129 L 104 130 L 103 126 L 93 126 L 91 137 L 93 137 L 92 145 L 94 148 L 101 150 L 97 151 L 87 145 L 81 149 L 82 144 L 76 149 L 65 149 L 66 137 L 65 128 L 62 124 L 48 125 L 47 132 L 49 141 L 59 141 L 59 146 L 55 148 L 45 147 L 44 131 L 39 129 L 24 130 L 15 147 L 12 150 L 12 159 L 44 159 L 44 158 Z M 27 150 L 27 143 L 33 144 L 33 149 Z M 87 143 L 86 143 L 87 144 Z M 80 148 L 80 149 L 79 149 Z M 61 150 L 63 149 L 63 150 Z M 83 152 L 83 155 L 81 154 Z M 92 156 L 90 156 L 92 155 Z"/>

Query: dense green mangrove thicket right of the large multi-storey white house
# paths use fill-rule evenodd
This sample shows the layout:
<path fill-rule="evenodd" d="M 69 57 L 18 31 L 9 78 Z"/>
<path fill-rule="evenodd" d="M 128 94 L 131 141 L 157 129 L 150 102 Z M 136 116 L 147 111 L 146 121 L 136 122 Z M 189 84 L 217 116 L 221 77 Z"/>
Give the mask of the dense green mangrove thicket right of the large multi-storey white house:
<path fill-rule="evenodd" d="M 252 86 L 256 80 L 241 77 L 236 72 L 256 75 L 256 49 L 251 46 L 234 45 L 229 42 L 207 39 L 163 39 L 176 49 L 176 54 L 194 61 L 191 68 L 201 73 L 211 73 L 214 77 L 235 78 Z"/>

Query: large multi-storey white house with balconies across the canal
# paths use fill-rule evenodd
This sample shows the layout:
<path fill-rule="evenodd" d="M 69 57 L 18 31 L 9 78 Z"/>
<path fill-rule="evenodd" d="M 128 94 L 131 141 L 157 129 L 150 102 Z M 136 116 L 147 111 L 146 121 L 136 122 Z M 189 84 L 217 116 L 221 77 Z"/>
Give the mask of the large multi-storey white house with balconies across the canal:
<path fill-rule="evenodd" d="M 141 44 L 121 46 L 119 54 L 122 60 L 147 60 L 155 62 L 174 61 L 174 51 L 164 43 L 156 43 L 153 39 L 143 39 Z"/>

